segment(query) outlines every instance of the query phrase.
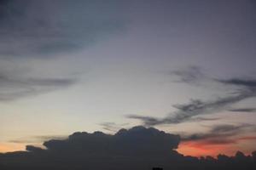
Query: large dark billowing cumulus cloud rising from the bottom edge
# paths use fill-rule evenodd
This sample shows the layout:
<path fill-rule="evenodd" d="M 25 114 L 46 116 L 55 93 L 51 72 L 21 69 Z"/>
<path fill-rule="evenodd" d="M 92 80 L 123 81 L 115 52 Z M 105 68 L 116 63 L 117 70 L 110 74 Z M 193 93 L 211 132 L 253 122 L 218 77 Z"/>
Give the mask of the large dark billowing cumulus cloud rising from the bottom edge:
<path fill-rule="evenodd" d="M 44 142 L 46 150 L 28 145 L 26 150 L 29 152 L 24 152 L 20 157 L 17 154 L 14 157 L 9 157 L 9 154 L 0 156 L 0 164 L 3 162 L 9 167 L 25 166 L 37 169 L 145 169 L 181 157 L 175 150 L 179 141 L 178 135 L 152 127 L 120 129 L 113 135 L 78 132 L 67 139 L 50 139 Z M 11 160 L 16 161 L 15 165 L 9 164 Z"/>

